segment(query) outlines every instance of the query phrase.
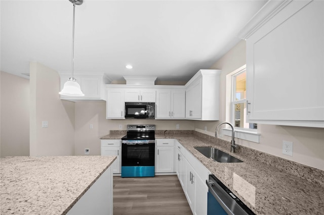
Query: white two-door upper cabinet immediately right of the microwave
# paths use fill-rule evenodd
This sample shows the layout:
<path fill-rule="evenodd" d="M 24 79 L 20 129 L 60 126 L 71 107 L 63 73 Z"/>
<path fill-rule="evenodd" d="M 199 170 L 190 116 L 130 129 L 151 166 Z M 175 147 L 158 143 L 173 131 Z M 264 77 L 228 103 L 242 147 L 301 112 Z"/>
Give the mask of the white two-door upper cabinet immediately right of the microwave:
<path fill-rule="evenodd" d="M 155 119 L 184 119 L 185 89 L 157 89 L 155 113 Z"/>

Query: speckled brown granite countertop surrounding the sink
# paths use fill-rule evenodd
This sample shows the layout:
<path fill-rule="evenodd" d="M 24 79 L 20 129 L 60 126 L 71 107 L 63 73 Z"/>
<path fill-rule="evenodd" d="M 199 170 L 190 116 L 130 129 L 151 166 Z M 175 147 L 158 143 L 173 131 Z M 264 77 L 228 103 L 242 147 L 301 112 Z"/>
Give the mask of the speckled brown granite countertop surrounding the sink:
<path fill-rule="evenodd" d="M 256 214 L 324 214 L 324 187 L 317 183 L 285 173 L 249 156 L 231 153 L 220 145 L 194 135 L 166 134 L 155 135 L 155 138 L 177 139 Z M 194 146 L 219 148 L 244 163 L 214 162 Z"/>

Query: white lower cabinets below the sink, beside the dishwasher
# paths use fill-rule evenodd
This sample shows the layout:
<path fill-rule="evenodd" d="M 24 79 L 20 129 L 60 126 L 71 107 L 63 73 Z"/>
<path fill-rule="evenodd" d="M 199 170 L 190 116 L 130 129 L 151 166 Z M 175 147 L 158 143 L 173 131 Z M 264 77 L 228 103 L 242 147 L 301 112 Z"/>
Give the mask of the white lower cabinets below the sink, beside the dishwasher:
<path fill-rule="evenodd" d="M 177 175 L 191 211 L 195 215 L 206 215 L 208 193 L 206 180 L 210 172 L 179 142 L 177 142 L 177 152 Z"/>

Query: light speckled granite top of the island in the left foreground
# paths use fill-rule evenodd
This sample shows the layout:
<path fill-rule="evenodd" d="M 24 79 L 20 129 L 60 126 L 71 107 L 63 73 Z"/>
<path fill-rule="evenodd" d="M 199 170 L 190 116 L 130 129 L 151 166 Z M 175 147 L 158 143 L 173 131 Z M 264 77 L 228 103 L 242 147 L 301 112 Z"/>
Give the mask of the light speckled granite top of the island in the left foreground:
<path fill-rule="evenodd" d="M 1 214 L 66 214 L 116 156 L 0 159 Z"/>

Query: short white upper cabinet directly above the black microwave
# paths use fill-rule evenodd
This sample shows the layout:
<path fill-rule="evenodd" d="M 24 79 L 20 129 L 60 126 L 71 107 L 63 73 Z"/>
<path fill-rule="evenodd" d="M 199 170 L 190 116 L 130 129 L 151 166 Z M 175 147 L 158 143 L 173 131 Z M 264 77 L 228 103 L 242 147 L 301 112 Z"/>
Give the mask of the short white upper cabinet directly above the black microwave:
<path fill-rule="evenodd" d="M 155 89 L 125 89 L 125 102 L 155 102 Z"/>

